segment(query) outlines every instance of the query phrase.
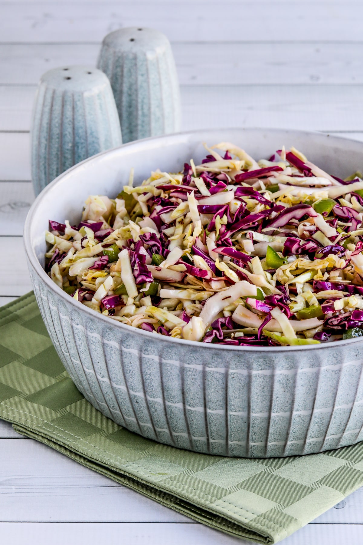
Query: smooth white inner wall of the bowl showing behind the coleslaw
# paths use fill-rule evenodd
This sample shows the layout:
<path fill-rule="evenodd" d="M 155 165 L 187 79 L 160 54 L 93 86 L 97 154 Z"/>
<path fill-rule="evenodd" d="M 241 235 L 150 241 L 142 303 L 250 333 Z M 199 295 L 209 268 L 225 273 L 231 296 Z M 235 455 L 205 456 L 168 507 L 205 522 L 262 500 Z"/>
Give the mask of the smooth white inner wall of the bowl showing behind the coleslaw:
<path fill-rule="evenodd" d="M 213 146 L 232 142 L 256 160 L 269 158 L 284 145 L 301 150 L 307 158 L 330 174 L 344 178 L 363 169 L 363 143 L 313 132 L 275 129 L 221 129 L 181 133 L 131 142 L 95 155 L 61 174 L 36 198 L 24 226 L 24 244 L 30 262 L 38 272 L 44 267 L 45 231 L 48 220 L 71 225 L 81 219 L 85 199 L 89 195 L 115 197 L 128 183 L 130 168 L 140 184 L 157 168 L 180 171 L 184 162 L 194 159 L 200 164 L 206 155 L 202 142 Z M 50 281 L 44 271 L 45 281 Z"/>

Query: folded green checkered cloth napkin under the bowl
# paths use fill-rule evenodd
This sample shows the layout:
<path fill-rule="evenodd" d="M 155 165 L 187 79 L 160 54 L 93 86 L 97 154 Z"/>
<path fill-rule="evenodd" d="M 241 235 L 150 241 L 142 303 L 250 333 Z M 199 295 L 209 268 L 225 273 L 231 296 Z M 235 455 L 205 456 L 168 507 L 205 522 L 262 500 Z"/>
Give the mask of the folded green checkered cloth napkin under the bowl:
<path fill-rule="evenodd" d="M 96 410 L 65 371 L 33 293 L 0 308 L 0 418 L 188 517 L 276 543 L 363 485 L 363 446 L 289 458 L 224 458 L 155 443 Z"/>

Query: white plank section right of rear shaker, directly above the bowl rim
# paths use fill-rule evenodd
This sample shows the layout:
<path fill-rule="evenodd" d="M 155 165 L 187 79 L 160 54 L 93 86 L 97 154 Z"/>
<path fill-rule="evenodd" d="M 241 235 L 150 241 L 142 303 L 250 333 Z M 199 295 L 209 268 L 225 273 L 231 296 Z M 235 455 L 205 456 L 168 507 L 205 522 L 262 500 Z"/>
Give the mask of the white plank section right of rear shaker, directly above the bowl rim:
<path fill-rule="evenodd" d="M 360 131 L 361 95 L 360 86 L 184 87 L 182 120 L 188 129 L 266 126 Z"/>

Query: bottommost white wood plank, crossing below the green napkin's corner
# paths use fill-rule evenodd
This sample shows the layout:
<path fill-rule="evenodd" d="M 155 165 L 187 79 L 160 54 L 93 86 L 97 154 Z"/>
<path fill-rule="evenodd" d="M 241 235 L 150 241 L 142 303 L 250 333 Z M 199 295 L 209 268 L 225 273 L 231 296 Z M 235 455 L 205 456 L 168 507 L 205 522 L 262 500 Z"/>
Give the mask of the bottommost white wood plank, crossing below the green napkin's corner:
<path fill-rule="evenodd" d="M 201 524 L 155 523 L 0 523 L 7 545 L 251 545 Z M 287 537 L 284 545 L 350 545 L 363 540 L 360 524 L 309 524 Z"/>

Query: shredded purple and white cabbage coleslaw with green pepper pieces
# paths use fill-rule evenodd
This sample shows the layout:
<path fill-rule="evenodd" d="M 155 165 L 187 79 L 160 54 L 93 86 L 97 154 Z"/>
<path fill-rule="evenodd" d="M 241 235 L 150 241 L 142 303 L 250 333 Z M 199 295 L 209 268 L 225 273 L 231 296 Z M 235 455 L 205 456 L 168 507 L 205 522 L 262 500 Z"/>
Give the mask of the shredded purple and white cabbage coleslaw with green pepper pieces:
<path fill-rule="evenodd" d="M 134 328 L 205 343 L 296 346 L 363 335 L 363 175 L 295 148 L 256 161 L 229 142 L 157 169 L 82 221 L 50 220 L 46 271 Z"/>

